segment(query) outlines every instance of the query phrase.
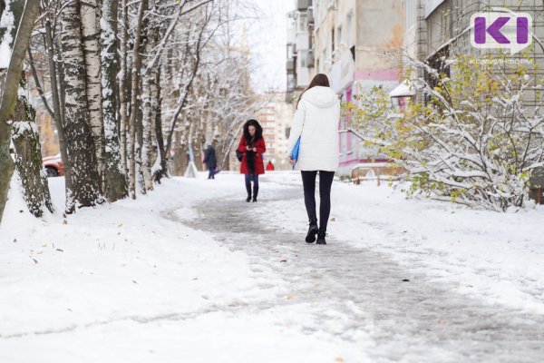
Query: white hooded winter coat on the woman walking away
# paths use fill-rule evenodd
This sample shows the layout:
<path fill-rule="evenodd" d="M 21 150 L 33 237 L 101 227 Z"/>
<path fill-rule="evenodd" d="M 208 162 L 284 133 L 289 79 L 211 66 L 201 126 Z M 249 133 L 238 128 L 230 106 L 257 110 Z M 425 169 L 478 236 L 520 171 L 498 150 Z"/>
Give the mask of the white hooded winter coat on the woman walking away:
<path fill-rule="evenodd" d="M 287 142 L 291 155 L 299 135 L 300 150 L 296 168 L 301 171 L 338 170 L 338 123 L 340 101 L 330 87 L 316 86 L 300 99 Z"/>

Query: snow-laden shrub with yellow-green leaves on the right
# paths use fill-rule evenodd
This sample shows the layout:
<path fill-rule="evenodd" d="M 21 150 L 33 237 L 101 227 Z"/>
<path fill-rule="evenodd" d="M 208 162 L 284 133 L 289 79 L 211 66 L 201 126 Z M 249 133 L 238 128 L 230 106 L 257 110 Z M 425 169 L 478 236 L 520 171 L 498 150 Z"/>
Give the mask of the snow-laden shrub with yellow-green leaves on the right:
<path fill-rule="evenodd" d="M 544 165 L 537 65 L 460 57 L 450 66 L 451 79 L 413 62 L 430 77 L 408 81 L 422 96 L 402 113 L 379 89 L 361 93 L 345 113 L 365 142 L 410 172 L 409 193 L 495 211 L 522 206 L 531 173 Z"/>

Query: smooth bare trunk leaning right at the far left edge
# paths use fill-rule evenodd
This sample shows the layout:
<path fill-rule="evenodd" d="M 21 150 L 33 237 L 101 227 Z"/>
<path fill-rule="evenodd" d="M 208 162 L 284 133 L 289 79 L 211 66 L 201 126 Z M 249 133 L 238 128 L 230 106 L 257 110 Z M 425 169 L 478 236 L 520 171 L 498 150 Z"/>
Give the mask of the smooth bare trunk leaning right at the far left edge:
<path fill-rule="evenodd" d="M 30 1 L 24 6 L 23 15 L 13 42 L 7 72 L 5 68 L 0 68 L 0 89 L 3 90 L 2 99 L 0 100 L 0 170 L 2 171 L 0 172 L 0 221 L 2 221 L 7 192 L 14 172 L 14 162 L 9 152 L 11 132 L 7 122 L 14 115 L 24 55 L 30 42 L 34 21 L 39 13 L 39 5 L 38 1 Z M 4 13 L 5 3 L 0 5 L 0 8 L 2 9 L 1 13 Z M 0 40 L 2 40 L 2 37 L 0 37 Z"/>

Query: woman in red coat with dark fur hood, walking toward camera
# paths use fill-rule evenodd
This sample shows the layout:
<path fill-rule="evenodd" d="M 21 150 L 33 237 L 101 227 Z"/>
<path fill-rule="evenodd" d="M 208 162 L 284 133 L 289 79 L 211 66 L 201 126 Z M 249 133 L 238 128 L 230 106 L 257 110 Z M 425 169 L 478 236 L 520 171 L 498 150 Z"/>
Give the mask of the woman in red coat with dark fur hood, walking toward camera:
<path fill-rule="evenodd" d="M 240 173 L 246 174 L 246 191 L 251 201 L 251 182 L 253 182 L 253 201 L 257 201 L 258 176 L 265 173 L 263 164 L 263 153 L 267 151 L 265 139 L 263 139 L 263 128 L 257 120 L 249 120 L 244 124 L 244 134 L 238 144 L 238 152 L 242 152 Z"/>

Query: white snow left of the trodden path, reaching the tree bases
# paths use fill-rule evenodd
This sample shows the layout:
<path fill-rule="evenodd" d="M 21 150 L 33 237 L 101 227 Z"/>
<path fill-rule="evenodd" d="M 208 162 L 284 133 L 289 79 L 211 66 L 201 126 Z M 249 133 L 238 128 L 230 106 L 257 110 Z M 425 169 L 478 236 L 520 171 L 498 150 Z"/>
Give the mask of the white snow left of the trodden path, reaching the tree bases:
<path fill-rule="evenodd" d="M 238 193 L 239 176 L 166 180 L 65 218 L 63 178 L 49 181 L 53 215 L 30 216 L 14 183 L 0 227 L 0 361 L 366 360 L 353 343 L 302 331 L 304 305 L 245 309 L 285 298 L 285 283 L 164 218 L 200 218 L 191 205 Z"/>

